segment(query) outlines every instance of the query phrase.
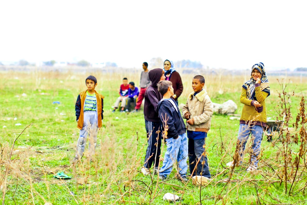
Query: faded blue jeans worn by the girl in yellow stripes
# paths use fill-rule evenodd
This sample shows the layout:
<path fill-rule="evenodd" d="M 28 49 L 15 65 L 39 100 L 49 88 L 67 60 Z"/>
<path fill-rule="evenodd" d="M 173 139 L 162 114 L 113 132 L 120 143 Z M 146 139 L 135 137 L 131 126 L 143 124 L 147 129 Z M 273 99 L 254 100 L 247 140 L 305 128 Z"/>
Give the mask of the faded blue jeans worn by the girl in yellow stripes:
<path fill-rule="evenodd" d="M 258 167 L 258 160 L 257 157 L 260 153 L 260 145 L 261 145 L 261 138 L 262 138 L 262 133 L 263 133 L 263 128 L 260 125 L 248 125 L 248 124 L 240 124 L 239 127 L 239 135 L 238 135 L 238 140 L 240 140 L 240 156 L 241 156 L 241 161 L 243 158 L 243 152 L 245 149 L 245 144 L 248 140 L 248 137 L 250 134 L 255 137 L 254 142 L 253 142 L 253 154 L 251 156 L 251 165 L 254 165 L 255 167 Z"/>

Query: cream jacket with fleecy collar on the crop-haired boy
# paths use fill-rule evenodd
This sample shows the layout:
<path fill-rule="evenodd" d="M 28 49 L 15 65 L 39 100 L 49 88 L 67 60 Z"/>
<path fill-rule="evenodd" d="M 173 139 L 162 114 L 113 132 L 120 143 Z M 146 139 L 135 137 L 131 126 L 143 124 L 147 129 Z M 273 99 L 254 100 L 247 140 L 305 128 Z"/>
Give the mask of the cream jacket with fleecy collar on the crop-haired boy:
<path fill-rule="evenodd" d="M 187 129 L 196 132 L 208 132 L 211 127 L 211 117 L 213 115 L 213 103 L 207 95 L 207 91 L 203 89 L 194 96 L 195 92 L 189 94 L 187 103 L 182 108 L 182 117 L 190 112 L 191 124 L 186 123 Z"/>

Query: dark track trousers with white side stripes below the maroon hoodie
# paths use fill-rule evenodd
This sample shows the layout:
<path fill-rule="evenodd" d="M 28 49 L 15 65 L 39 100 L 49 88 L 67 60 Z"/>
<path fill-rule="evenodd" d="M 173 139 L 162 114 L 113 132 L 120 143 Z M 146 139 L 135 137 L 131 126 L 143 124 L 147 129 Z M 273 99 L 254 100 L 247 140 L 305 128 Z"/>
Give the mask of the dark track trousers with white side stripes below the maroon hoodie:
<path fill-rule="evenodd" d="M 150 122 L 145 120 L 145 128 L 147 132 L 148 147 L 146 150 L 144 167 L 151 168 L 151 166 L 154 163 L 155 167 L 158 167 L 161 155 L 161 150 L 160 150 L 161 138 L 162 138 L 161 122 Z M 157 134 L 157 131 L 160 131 L 159 134 Z M 157 152 L 157 157 L 156 157 L 156 152 Z"/>

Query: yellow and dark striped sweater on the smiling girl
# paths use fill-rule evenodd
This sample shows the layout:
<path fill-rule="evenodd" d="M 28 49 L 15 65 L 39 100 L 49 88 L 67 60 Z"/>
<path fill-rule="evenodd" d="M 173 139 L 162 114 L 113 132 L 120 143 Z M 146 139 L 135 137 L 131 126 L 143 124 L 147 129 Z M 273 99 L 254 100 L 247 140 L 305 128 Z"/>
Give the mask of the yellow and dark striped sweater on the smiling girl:
<path fill-rule="evenodd" d="M 263 106 L 262 112 L 257 112 L 254 106 L 251 106 L 252 100 L 247 98 L 246 89 L 242 88 L 240 95 L 240 102 L 243 103 L 243 110 L 240 118 L 240 124 L 246 124 L 246 121 L 252 120 L 256 122 L 258 125 L 265 126 L 266 125 L 266 103 L 265 99 L 268 96 L 268 93 L 261 91 L 260 86 L 255 87 L 255 97 L 258 103 Z"/>

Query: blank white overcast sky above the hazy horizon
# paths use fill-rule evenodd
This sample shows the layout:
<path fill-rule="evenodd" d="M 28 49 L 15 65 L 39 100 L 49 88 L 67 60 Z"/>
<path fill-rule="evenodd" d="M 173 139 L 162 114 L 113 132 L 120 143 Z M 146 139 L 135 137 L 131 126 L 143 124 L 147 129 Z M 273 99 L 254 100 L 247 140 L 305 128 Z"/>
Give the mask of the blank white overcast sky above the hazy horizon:
<path fill-rule="evenodd" d="M 307 67 L 306 8 L 293 0 L 1 1 L 0 61 Z"/>

